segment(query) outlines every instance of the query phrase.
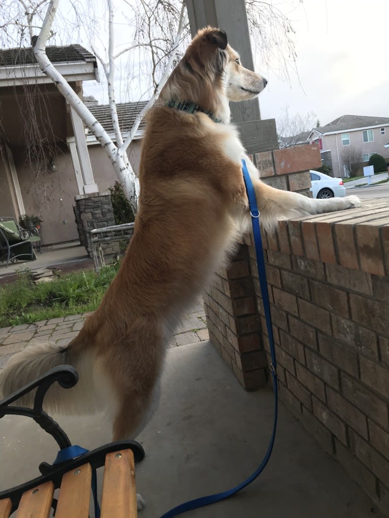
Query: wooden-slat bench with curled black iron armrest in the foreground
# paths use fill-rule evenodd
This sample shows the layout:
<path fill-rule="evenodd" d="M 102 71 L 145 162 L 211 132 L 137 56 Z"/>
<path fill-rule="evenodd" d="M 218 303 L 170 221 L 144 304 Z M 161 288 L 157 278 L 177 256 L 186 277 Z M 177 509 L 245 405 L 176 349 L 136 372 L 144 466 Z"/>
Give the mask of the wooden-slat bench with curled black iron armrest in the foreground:
<path fill-rule="evenodd" d="M 77 371 L 61 365 L 0 400 L 0 419 L 4 415 L 24 415 L 47 431 L 60 447 L 53 464 L 39 464 L 40 477 L 10 490 L 0 492 L 0 518 L 8 518 L 18 510 L 18 518 L 48 518 L 51 509 L 55 518 L 88 518 L 91 498 L 95 516 L 100 518 L 136 518 L 134 463 L 141 461 L 144 450 L 136 441 L 110 442 L 93 451 L 72 446 L 62 428 L 42 409 L 47 390 L 54 382 L 70 389 L 78 381 Z M 33 408 L 15 406 L 21 396 L 35 391 Z M 104 466 L 101 511 L 96 495 L 96 468 Z M 54 490 L 60 489 L 58 498 Z"/>

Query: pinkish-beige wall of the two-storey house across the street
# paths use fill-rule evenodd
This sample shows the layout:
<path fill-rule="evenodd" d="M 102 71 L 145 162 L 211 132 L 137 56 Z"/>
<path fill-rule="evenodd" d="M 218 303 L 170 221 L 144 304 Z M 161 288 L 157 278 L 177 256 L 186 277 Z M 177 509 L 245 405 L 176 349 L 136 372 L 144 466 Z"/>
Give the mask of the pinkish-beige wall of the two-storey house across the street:
<path fill-rule="evenodd" d="M 385 128 L 385 135 L 381 135 L 380 127 Z M 372 142 L 363 141 L 363 130 L 342 132 L 349 134 L 350 146 L 360 151 L 360 161 L 362 161 L 362 155 L 365 153 L 378 153 L 385 158 L 386 162 L 389 162 L 389 150 L 384 148 L 384 145 L 389 142 L 389 126 L 380 127 L 372 128 L 374 139 Z M 344 177 L 342 151 L 347 149 L 348 146 L 342 145 L 342 133 L 322 136 L 323 149 L 331 150 L 334 177 Z"/>

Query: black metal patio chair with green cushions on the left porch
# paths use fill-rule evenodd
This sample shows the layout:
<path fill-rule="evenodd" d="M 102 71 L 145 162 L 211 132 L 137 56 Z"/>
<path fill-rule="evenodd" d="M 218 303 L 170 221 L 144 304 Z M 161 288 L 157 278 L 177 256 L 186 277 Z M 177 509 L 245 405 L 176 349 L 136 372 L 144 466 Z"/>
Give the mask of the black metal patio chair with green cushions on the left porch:
<path fill-rule="evenodd" d="M 35 261 L 34 244 L 40 252 L 39 231 L 27 231 L 17 224 L 15 219 L 0 217 L 0 260 Z"/>

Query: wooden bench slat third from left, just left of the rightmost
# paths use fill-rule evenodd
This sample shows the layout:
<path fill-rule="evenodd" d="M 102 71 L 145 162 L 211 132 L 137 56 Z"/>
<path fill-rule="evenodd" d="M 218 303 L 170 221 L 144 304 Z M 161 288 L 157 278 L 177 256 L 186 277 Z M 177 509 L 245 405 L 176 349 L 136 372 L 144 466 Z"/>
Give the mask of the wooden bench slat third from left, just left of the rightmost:
<path fill-rule="evenodd" d="M 64 474 L 55 518 L 88 518 L 91 479 L 90 464 Z"/>

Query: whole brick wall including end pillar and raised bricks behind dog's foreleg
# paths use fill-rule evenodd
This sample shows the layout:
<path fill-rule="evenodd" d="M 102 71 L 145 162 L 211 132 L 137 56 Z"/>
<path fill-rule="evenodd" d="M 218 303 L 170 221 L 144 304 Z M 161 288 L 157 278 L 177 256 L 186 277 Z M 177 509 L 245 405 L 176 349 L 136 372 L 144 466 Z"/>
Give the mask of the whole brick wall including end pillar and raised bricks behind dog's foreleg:
<path fill-rule="evenodd" d="M 308 194 L 304 169 L 319 155 L 307 148 L 253 160 L 267 183 Z M 389 513 L 389 200 L 280 222 L 263 243 L 280 397 Z M 216 279 L 204 299 L 210 338 L 254 390 L 269 345 L 250 236 Z"/>

